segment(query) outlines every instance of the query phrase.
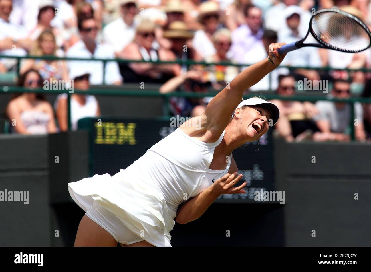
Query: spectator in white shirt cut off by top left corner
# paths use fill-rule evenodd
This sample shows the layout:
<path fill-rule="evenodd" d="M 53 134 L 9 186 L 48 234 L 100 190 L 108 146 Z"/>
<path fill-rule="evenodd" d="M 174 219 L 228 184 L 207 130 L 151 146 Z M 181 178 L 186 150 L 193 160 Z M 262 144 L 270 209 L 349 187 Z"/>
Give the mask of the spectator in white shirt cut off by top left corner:
<path fill-rule="evenodd" d="M 27 38 L 24 27 L 10 23 L 12 0 L 0 0 L 0 55 L 25 56 L 31 49 L 32 40 Z M 14 59 L 1 59 L 0 63 L 10 70 L 16 65 Z"/>

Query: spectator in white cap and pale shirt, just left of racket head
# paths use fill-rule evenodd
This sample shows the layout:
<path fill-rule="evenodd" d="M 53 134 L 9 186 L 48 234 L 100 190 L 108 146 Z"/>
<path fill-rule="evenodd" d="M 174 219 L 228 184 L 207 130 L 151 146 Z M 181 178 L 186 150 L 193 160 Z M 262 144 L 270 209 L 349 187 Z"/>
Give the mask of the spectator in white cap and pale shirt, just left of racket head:
<path fill-rule="evenodd" d="M 278 42 L 281 43 L 284 41 L 285 43 L 293 43 L 304 38 L 305 33 L 300 33 L 298 28 L 301 21 L 301 8 L 291 5 L 286 7 L 283 11 L 286 18 L 287 28 L 279 32 Z M 316 47 L 303 47 L 300 50 L 290 52 L 290 54 L 287 54 L 286 57 L 282 61 L 282 65 L 284 66 L 321 67 L 322 64 L 318 48 Z M 312 81 L 321 80 L 321 76 L 316 70 L 302 68 L 296 69 L 296 80 L 302 80 L 303 77 Z"/>

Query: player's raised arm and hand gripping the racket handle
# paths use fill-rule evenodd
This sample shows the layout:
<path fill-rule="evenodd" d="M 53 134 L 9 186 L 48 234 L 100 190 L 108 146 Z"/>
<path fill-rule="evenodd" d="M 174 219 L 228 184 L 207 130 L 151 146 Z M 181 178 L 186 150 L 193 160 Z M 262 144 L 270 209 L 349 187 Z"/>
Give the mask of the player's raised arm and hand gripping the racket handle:
<path fill-rule="evenodd" d="M 206 129 L 211 132 L 210 142 L 216 141 L 226 128 L 233 111 L 241 102 L 244 91 L 259 82 L 282 62 L 286 54 L 280 55 L 277 49 L 284 44 L 270 44 L 268 58 L 247 67 L 210 101 L 203 114 Z"/>

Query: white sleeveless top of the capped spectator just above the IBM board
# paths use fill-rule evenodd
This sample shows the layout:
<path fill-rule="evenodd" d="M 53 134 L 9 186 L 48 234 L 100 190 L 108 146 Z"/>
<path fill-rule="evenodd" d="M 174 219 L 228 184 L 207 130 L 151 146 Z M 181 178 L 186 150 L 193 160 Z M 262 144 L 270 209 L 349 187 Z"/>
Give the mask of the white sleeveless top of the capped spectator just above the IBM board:
<path fill-rule="evenodd" d="M 56 109 L 59 100 L 61 98 L 67 99 L 67 94 L 59 94 L 54 104 L 54 108 Z M 71 98 L 71 123 L 72 123 L 72 130 L 77 130 L 77 122 L 85 117 L 95 117 L 96 111 L 98 110 L 98 101 L 96 100 L 94 95 L 86 94 L 86 103 L 85 105 L 81 105 L 76 100 Z"/>

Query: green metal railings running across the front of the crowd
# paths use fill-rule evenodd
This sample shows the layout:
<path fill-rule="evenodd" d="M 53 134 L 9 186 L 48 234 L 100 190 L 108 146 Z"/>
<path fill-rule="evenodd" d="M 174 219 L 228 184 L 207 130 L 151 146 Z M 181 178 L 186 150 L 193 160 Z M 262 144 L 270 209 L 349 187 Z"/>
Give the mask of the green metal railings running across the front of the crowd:
<path fill-rule="evenodd" d="M 191 65 L 204 65 L 204 66 L 210 66 L 210 65 L 221 65 L 221 66 L 236 66 L 236 67 L 248 67 L 252 64 L 236 64 L 236 63 L 230 63 L 230 62 L 220 62 L 220 63 L 206 63 L 206 62 L 200 62 L 200 61 L 193 61 L 193 60 L 176 60 L 176 61 L 144 61 L 144 60 L 124 60 L 120 58 L 116 59 L 104 59 L 104 58 L 66 58 L 66 57 L 54 57 L 54 56 L 42 56 L 42 57 L 35 57 L 35 56 L 24 56 L 24 57 L 15 57 L 15 56 L 0 56 L 0 58 L 13 58 L 17 59 L 17 75 L 19 75 L 20 71 L 20 61 L 22 59 L 43 59 L 43 60 L 67 60 L 67 61 L 102 61 L 104 63 L 104 69 L 103 69 L 103 84 L 105 84 L 105 67 L 106 63 L 110 61 L 117 61 L 118 63 L 153 63 L 153 64 L 185 64 L 187 67 Z M 289 69 L 298 69 L 298 68 L 304 68 L 304 69 L 311 69 L 311 70 L 346 70 L 346 71 L 364 71 L 364 72 L 371 72 L 371 69 L 362 68 L 362 69 L 334 69 L 331 67 L 320 67 L 320 68 L 313 68 L 313 67 L 293 67 L 293 66 L 280 66 L 280 68 L 289 68 Z M 1 83 L 1 82 L 0 82 Z M 272 78 L 271 74 L 269 74 L 269 91 L 272 91 L 271 85 L 272 84 Z M 71 111 L 70 111 L 70 99 L 71 94 L 69 93 L 69 90 L 44 90 L 44 89 L 26 89 L 23 87 L 13 87 L 13 86 L 4 86 L 0 85 L 0 92 L 32 92 L 32 93 L 66 93 L 68 94 L 68 128 L 71 129 Z M 165 111 L 164 115 L 168 114 L 168 99 L 170 97 L 213 97 L 218 92 L 209 92 L 209 93 L 189 93 L 189 92 L 174 92 L 174 93 L 168 93 L 168 94 L 161 94 L 154 91 L 145 91 L 145 90 L 104 90 L 104 89 L 94 89 L 94 90 L 88 90 L 88 91 L 82 91 L 82 90 L 74 90 L 73 93 L 76 94 L 92 94 L 92 95 L 118 95 L 118 96 L 143 96 L 143 97 L 163 97 L 165 100 Z M 244 95 L 244 98 L 249 98 L 252 96 L 255 96 L 256 93 L 250 93 L 250 95 Z M 352 140 L 354 140 L 354 103 L 355 102 L 361 102 L 361 103 L 371 103 L 371 98 L 361 98 L 361 97 L 351 97 L 349 99 L 338 99 L 338 98 L 329 98 L 327 96 L 318 96 L 318 95 L 294 95 L 291 97 L 283 97 L 277 94 L 265 94 L 264 96 L 266 99 L 280 99 L 280 100 L 297 100 L 297 101 L 319 101 L 319 100 L 327 100 L 327 101 L 334 101 L 334 102 L 344 102 L 349 103 L 351 105 L 351 136 Z"/>

